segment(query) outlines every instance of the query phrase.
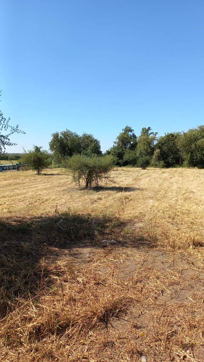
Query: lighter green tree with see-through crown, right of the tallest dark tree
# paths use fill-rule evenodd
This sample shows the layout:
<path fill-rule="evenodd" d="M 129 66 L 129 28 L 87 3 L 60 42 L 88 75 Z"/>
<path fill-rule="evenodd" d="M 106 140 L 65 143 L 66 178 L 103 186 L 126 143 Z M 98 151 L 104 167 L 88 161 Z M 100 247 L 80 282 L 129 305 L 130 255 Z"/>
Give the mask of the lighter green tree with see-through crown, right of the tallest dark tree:
<path fill-rule="evenodd" d="M 138 158 L 151 157 L 153 155 L 154 143 L 156 140 L 157 132 L 150 132 L 151 128 L 143 127 L 141 134 L 137 139 L 137 151 L 136 155 Z"/>

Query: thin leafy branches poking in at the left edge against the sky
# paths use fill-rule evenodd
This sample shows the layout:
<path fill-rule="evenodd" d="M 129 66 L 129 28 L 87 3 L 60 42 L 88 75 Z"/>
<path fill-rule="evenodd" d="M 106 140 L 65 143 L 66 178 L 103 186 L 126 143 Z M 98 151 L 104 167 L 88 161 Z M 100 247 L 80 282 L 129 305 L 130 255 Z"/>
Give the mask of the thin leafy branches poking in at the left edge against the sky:
<path fill-rule="evenodd" d="M 1 90 L 0 90 L 1 96 Z M 16 125 L 15 127 L 10 125 L 10 118 L 6 119 L 3 115 L 3 112 L 0 110 L 0 155 L 5 155 L 5 148 L 8 146 L 15 146 L 16 143 L 11 142 L 10 136 L 14 133 L 23 133 L 19 126 Z"/>

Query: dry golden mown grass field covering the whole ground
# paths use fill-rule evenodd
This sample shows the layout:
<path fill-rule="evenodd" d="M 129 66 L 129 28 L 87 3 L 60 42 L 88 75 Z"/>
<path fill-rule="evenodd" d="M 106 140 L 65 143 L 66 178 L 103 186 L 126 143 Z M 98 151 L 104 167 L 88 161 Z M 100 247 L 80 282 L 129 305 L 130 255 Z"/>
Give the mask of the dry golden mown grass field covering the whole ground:
<path fill-rule="evenodd" d="M 204 361 L 204 170 L 112 176 L 0 174 L 0 361 Z"/>

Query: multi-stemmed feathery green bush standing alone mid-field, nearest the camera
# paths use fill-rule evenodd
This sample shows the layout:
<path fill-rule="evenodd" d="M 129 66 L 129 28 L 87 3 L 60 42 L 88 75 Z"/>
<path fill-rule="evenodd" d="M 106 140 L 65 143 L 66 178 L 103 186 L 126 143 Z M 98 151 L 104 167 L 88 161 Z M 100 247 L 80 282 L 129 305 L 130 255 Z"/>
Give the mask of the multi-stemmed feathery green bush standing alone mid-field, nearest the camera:
<path fill-rule="evenodd" d="M 99 182 L 111 181 L 110 171 L 115 164 L 112 156 L 93 156 L 74 155 L 67 160 L 66 167 L 70 169 L 73 175 L 73 181 L 80 185 L 85 182 L 85 189 L 88 186 L 98 186 Z"/>

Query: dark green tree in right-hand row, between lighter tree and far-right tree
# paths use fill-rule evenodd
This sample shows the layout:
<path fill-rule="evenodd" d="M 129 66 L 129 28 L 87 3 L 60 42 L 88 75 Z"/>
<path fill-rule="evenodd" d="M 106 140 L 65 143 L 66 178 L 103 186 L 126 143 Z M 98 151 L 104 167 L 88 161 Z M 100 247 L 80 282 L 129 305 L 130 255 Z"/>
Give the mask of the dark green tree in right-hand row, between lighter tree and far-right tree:
<path fill-rule="evenodd" d="M 180 132 L 167 133 L 165 136 L 159 137 L 155 144 L 155 150 L 160 151 L 161 159 L 165 163 L 165 167 L 173 167 L 183 162 L 180 142 Z"/>

